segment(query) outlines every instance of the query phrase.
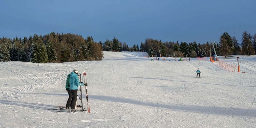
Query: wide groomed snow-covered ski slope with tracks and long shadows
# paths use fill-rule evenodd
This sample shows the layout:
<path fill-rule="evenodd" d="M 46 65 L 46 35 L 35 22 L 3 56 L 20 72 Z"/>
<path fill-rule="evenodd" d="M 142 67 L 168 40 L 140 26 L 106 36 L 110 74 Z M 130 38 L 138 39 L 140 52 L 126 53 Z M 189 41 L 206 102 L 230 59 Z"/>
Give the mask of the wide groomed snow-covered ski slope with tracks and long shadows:
<path fill-rule="evenodd" d="M 0 62 L 0 127 L 256 127 L 256 56 L 239 59 L 241 70 L 254 74 L 196 58 L 164 62 L 143 56 L 147 53 L 104 52 L 102 61 Z M 237 63 L 236 57 L 225 61 Z M 66 76 L 74 68 L 87 74 L 91 113 L 47 110 L 66 105 Z"/>

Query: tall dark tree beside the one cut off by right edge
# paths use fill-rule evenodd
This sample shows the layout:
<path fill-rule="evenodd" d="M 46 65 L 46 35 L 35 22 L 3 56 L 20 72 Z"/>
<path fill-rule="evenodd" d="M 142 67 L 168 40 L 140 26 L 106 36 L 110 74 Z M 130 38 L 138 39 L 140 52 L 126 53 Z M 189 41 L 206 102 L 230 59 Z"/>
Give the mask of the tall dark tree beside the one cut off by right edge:
<path fill-rule="evenodd" d="M 250 33 L 247 33 L 246 31 L 242 34 L 242 51 L 244 54 L 253 55 L 253 46 L 252 46 L 252 36 Z"/>

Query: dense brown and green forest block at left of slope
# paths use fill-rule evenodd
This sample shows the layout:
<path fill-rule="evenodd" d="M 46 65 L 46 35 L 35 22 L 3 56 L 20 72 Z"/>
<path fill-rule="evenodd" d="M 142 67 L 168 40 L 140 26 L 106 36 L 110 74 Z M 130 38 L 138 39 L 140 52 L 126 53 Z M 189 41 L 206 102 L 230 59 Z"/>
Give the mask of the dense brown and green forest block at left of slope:
<path fill-rule="evenodd" d="M 0 38 L 1 61 L 51 63 L 102 59 L 102 45 L 94 42 L 92 36 L 85 39 L 81 35 L 51 32 L 23 39 Z"/>

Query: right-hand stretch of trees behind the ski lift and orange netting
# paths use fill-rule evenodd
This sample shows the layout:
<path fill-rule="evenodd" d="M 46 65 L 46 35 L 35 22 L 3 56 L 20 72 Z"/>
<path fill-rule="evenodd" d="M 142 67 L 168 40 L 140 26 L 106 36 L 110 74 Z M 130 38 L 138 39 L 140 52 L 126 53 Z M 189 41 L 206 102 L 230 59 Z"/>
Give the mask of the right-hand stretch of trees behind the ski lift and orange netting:
<path fill-rule="evenodd" d="M 212 45 L 213 44 L 213 45 Z M 244 31 L 241 38 L 241 44 L 235 36 L 231 37 L 228 32 L 224 32 L 219 39 L 219 42 L 211 43 L 206 42 L 205 44 L 200 44 L 194 42 L 162 42 L 161 40 L 155 40 L 147 38 L 145 43 L 140 44 L 140 49 L 148 52 L 150 57 L 207 57 L 215 54 L 213 50 L 215 48 L 216 54 L 218 56 L 228 55 L 254 55 L 256 54 L 256 34 L 251 36 L 250 33 Z"/>

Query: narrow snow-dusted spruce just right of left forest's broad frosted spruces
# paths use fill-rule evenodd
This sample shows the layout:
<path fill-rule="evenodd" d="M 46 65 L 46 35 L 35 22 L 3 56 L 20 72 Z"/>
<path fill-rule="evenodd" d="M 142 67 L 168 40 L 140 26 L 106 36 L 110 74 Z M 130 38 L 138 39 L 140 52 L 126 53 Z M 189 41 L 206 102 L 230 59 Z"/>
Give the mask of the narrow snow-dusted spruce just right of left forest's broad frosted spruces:
<path fill-rule="evenodd" d="M 52 42 L 50 40 L 46 43 L 46 52 L 48 57 L 48 62 L 54 62 L 57 60 L 56 51 L 54 49 L 54 46 L 52 45 Z"/>

